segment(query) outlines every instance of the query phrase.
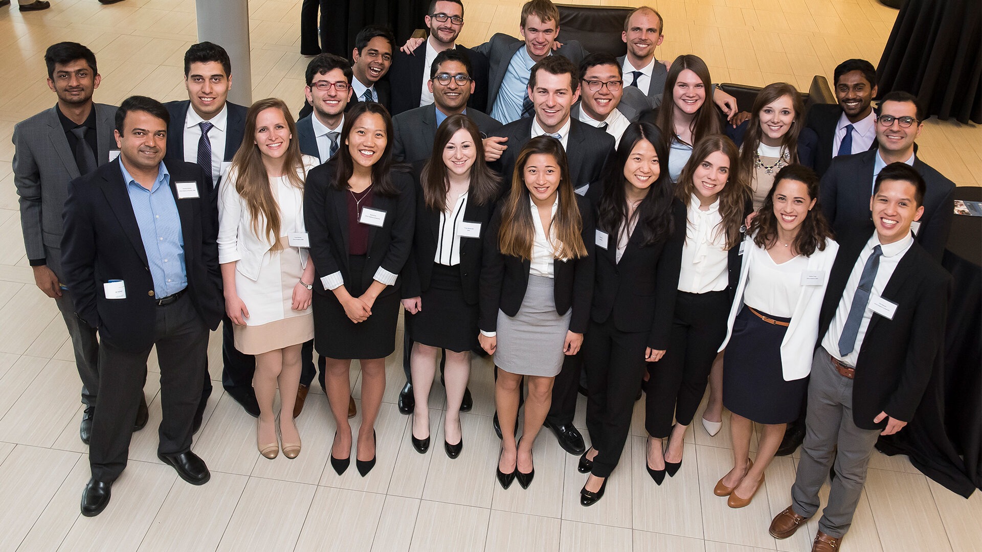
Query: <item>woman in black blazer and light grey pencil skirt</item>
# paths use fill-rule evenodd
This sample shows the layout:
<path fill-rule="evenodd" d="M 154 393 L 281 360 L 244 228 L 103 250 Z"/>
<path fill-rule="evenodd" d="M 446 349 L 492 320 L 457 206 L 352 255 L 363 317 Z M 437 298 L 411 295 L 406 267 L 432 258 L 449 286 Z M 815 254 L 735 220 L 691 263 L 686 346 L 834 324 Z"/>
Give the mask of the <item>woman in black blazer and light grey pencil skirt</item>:
<path fill-rule="evenodd" d="M 518 153 L 511 192 L 484 234 L 478 327 L 495 355 L 501 422 L 498 481 L 527 488 L 532 445 L 552 402 L 564 355 L 583 342 L 593 293 L 593 214 L 573 193 L 563 144 L 542 136 Z M 500 342 L 501 347 L 498 347 Z M 497 354 L 495 353 L 497 351 Z M 515 440 L 522 376 L 528 379 L 522 438 Z"/>

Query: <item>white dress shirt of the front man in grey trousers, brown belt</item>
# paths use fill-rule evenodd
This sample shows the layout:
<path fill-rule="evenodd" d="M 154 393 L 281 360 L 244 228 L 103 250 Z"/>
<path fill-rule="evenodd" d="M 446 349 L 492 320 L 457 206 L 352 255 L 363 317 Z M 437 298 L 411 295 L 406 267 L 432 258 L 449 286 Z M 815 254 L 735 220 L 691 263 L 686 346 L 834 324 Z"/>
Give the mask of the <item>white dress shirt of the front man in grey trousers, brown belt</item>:
<path fill-rule="evenodd" d="M 863 337 L 865 337 L 866 329 L 869 328 L 869 321 L 873 317 L 873 311 L 869 305 L 872 304 L 874 299 L 879 298 L 883 294 L 883 289 L 887 287 L 890 277 L 894 275 L 894 270 L 897 269 L 900 259 L 903 258 L 904 253 L 907 252 L 907 249 L 913 243 L 914 239 L 908 234 L 902 240 L 884 246 L 880 244 L 880 239 L 875 232 L 870 237 L 869 242 L 866 242 L 866 247 L 859 253 L 859 258 L 852 265 L 852 272 L 849 273 L 849 279 L 846 280 L 846 289 L 843 290 L 843 297 L 839 300 L 839 305 L 836 307 L 836 314 L 832 317 L 832 323 L 829 324 L 829 331 L 825 333 L 825 338 L 822 340 L 822 347 L 830 355 L 842 360 L 849 366 L 856 365 L 856 360 L 859 359 L 859 351 L 862 349 Z M 883 254 L 880 255 L 880 266 L 877 267 L 876 278 L 873 279 L 873 287 L 869 291 L 869 303 L 866 304 L 866 310 L 863 311 L 862 319 L 859 321 L 859 331 L 856 333 L 855 347 L 852 348 L 851 353 L 843 356 L 839 353 L 839 338 L 842 337 L 843 330 L 846 328 L 846 318 L 849 316 L 852 298 L 855 297 L 856 289 L 859 287 L 862 270 L 866 266 L 869 255 L 873 254 L 873 248 L 877 246 L 880 246 Z"/>

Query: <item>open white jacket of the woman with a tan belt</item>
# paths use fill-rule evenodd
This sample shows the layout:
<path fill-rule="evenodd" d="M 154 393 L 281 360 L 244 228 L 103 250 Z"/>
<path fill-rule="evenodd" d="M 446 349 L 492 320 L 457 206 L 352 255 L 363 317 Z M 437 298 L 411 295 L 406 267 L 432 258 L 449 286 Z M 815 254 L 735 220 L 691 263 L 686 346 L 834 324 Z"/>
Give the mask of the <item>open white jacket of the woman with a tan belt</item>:
<path fill-rule="evenodd" d="M 747 236 L 743 242 L 743 250 L 756 248 L 753 238 Z M 791 314 L 791 324 L 785 339 L 781 342 L 781 365 L 785 381 L 801 379 L 811 373 L 811 362 L 815 355 L 815 345 L 818 343 L 818 316 L 825 298 L 825 289 L 829 285 L 829 274 L 832 263 L 836 260 L 839 244 L 832 240 L 825 241 L 825 250 L 815 250 L 808 257 L 808 270 L 821 271 L 825 278 L 820 286 L 803 286 L 801 295 Z M 740 309 L 743 308 L 743 291 L 746 289 L 747 275 L 750 273 L 750 259 L 753 255 L 744 254 L 739 271 L 739 283 L 736 285 L 734 304 L 730 308 L 730 318 L 727 321 L 727 338 L 719 351 L 723 351 L 733 335 L 734 321 Z"/>

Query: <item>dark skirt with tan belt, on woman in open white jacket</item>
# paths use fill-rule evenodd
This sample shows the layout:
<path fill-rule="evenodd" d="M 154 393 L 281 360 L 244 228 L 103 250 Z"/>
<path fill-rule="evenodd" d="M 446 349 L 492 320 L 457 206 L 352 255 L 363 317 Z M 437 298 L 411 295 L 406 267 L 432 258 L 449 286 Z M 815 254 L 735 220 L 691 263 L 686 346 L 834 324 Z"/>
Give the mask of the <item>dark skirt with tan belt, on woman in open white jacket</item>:
<path fill-rule="evenodd" d="M 765 322 L 743 305 L 723 356 L 723 405 L 730 412 L 757 423 L 790 423 L 798 418 L 808 378 L 785 381 L 781 342 L 787 331 L 787 326 Z"/>

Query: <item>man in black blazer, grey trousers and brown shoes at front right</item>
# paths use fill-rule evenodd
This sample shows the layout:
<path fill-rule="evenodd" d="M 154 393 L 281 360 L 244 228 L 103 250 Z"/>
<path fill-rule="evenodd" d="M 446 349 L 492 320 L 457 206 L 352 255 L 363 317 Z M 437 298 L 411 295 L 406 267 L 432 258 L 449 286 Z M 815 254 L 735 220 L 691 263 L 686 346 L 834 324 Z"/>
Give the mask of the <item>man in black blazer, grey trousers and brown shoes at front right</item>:
<path fill-rule="evenodd" d="M 911 237 L 925 193 L 916 170 L 891 163 L 869 201 L 875 231 L 840 235 L 819 317 L 804 445 L 791 506 L 771 523 L 776 538 L 815 515 L 834 462 L 812 550 L 839 549 L 877 438 L 910 421 L 939 365 L 952 277 Z"/>

